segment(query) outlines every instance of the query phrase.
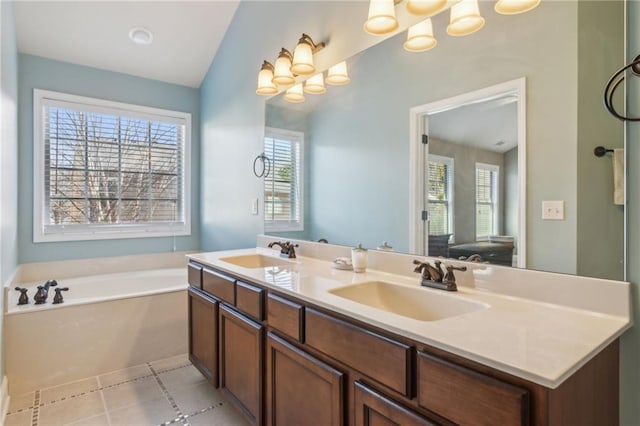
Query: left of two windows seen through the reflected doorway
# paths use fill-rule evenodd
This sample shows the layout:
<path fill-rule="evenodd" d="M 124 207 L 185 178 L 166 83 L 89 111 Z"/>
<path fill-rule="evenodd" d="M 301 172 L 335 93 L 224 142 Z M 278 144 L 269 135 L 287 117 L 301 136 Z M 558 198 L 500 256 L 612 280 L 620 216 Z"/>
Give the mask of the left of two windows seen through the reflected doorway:
<path fill-rule="evenodd" d="M 453 234 L 453 158 L 429 155 L 429 235 Z"/>

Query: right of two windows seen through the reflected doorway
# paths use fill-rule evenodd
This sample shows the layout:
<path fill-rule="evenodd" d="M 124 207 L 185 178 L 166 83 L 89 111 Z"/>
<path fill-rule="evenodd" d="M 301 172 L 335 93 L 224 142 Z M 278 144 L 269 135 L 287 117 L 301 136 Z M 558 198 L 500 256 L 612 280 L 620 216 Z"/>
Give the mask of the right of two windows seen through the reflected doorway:
<path fill-rule="evenodd" d="M 476 163 L 476 239 L 486 240 L 498 231 L 498 182 L 500 168 Z"/>

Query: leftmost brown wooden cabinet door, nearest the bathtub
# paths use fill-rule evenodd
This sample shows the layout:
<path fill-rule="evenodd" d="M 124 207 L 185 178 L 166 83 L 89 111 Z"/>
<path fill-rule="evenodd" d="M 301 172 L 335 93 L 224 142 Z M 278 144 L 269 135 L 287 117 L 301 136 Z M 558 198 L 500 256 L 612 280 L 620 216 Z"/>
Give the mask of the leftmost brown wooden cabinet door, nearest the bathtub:
<path fill-rule="evenodd" d="M 189 360 L 218 387 L 218 302 L 189 288 Z"/>

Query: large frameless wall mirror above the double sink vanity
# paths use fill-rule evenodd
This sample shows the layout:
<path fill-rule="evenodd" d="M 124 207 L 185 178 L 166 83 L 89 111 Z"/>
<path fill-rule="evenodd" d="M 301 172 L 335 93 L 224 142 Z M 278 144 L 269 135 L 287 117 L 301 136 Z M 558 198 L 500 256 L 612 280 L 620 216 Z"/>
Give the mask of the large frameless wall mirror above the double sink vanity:
<path fill-rule="evenodd" d="M 624 2 L 542 2 L 514 16 L 496 14 L 492 2 L 480 2 L 480 8 L 486 25 L 475 34 L 447 36 L 448 14 L 440 14 L 433 19 L 435 49 L 406 52 L 406 33 L 400 33 L 347 59 L 348 85 L 328 86 L 323 95 L 307 94 L 301 104 L 281 96 L 267 101 L 266 125 L 302 135 L 303 143 L 296 151 L 301 164 L 297 227 L 266 224 L 266 233 L 369 248 L 386 241 L 395 251 L 424 253 L 429 231 L 420 226 L 424 206 L 414 197 L 416 162 L 424 161 L 428 169 L 429 149 L 433 159 L 446 157 L 442 152 L 451 149 L 443 144 L 459 139 L 447 132 L 472 124 L 448 114 L 427 117 L 425 128 L 435 143 L 423 157 L 414 146 L 419 126 L 412 109 L 524 79 L 526 99 L 514 105 L 520 103 L 525 111 L 526 147 L 501 154 L 513 157 L 518 152 L 520 181 L 508 180 L 503 159 L 498 182 L 504 203 L 511 191 L 511 205 L 517 199 L 523 206 L 516 215 L 522 222 L 509 225 L 512 219 L 503 208 L 491 235 L 476 232 L 478 205 L 470 194 L 478 189 L 467 182 L 462 187 L 471 191 L 456 189 L 452 197 L 474 204 L 471 216 L 454 224 L 452 232 L 431 234 L 451 234 L 446 247 L 452 257 L 474 253 L 456 251 L 456 245 L 494 237 L 497 243 L 512 241 L 514 266 L 623 279 L 624 207 L 613 201 L 611 158 L 598 158 L 593 149 L 624 147 L 623 125 L 606 113 L 601 101 L 608 77 L 624 62 Z M 434 132 L 440 136 L 433 137 Z M 507 136 L 498 138 L 513 143 Z M 514 164 L 513 158 L 507 161 Z M 288 176 L 286 172 L 280 176 Z M 542 206 L 548 201 L 562 207 L 560 219 L 543 219 Z M 462 235 L 465 225 L 474 230 L 471 236 Z"/>

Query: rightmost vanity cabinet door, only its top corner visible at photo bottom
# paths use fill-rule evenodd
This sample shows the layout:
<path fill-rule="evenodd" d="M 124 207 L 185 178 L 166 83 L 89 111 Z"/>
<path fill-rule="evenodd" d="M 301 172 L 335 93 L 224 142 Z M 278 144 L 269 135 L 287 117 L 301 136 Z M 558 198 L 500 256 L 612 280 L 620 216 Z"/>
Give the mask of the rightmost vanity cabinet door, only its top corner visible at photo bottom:
<path fill-rule="evenodd" d="M 435 426 L 383 394 L 355 382 L 355 426 Z"/>

